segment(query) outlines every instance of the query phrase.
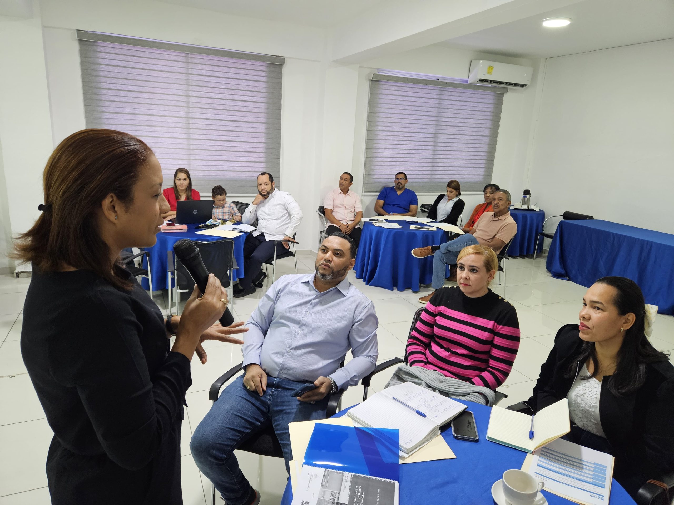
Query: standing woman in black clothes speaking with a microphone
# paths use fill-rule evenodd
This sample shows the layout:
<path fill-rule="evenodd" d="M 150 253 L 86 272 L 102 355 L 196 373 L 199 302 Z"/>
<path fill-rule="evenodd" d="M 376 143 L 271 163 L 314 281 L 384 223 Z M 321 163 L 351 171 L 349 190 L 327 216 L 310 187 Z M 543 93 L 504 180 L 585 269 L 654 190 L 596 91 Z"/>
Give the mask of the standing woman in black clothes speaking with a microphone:
<path fill-rule="evenodd" d="M 44 205 L 15 257 L 33 276 L 21 350 L 54 438 L 53 504 L 182 504 L 180 430 L 200 342 L 245 331 L 214 325 L 227 305 L 209 276 L 180 318 L 159 308 L 119 261 L 156 242 L 162 171 L 119 131 L 73 133 L 44 169 Z M 169 349 L 171 334 L 175 343 Z"/>

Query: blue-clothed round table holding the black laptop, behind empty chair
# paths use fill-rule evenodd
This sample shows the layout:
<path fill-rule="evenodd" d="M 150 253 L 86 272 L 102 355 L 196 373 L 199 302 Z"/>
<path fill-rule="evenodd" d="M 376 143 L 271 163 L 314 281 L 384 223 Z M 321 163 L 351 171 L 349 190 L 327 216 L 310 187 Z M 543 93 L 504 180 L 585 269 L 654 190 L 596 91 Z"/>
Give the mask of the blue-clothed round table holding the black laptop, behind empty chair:
<path fill-rule="evenodd" d="M 196 224 L 188 224 L 187 232 L 159 232 L 157 234 L 157 243 L 152 247 L 146 247 L 145 250 L 150 253 L 150 273 L 152 274 L 152 289 L 167 290 L 168 289 L 168 275 L 166 274 L 166 267 L 168 267 L 168 251 L 173 250 L 173 244 L 183 238 L 195 240 L 197 242 L 214 242 L 215 240 L 222 240 L 222 237 L 213 235 L 200 235 L 201 229 L 197 228 Z M 233 282 L 243 277 L 243 242 L 246 240 L 246 232 L 241 232 L 241 235 L 235 237 L 234 240 L 234 259 L 237 261 L 238 269 L 233 271 Z M 144 262 L 144 267 L 147 268 L 147 263 Z M 143 277 L 142 286 L 144 289 L 149 288 L 148 279 Z M 173 287 L 173 286 L 172 286 Z"/>

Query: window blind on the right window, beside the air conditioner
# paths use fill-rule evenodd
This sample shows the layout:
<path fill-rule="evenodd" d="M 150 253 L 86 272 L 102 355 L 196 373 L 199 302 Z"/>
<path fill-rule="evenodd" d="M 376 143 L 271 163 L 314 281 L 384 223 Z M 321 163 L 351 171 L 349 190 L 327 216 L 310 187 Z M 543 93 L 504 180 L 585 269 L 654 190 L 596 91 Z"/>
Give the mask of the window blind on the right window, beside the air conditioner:
<path fill-rule="evenodd" d="M 408 188 L 442 193 L 456 179 L 462 191 L 491 182 L 506 88 L 374 74 L 370 82 L 363 193 L 392 186 L 405 172 Z"/>

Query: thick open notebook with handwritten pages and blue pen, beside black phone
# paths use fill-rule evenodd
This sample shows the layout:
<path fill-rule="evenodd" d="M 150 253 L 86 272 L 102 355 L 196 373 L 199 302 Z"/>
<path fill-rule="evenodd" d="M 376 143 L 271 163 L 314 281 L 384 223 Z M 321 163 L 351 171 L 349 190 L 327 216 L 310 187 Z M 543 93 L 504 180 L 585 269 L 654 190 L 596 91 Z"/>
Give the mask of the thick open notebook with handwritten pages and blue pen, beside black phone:
<path fill-rule="evenodd" d="M 394 397 L 425 413 L 426 417 L 398 403 Z M 466 405 L 458 401 L 404 382 L 375 393 L 346 415 L 362 426 L 398 430 L 400 452 L 410 455 L 433 440 L 440 433 L 440 427 L 464 409 Z"/>

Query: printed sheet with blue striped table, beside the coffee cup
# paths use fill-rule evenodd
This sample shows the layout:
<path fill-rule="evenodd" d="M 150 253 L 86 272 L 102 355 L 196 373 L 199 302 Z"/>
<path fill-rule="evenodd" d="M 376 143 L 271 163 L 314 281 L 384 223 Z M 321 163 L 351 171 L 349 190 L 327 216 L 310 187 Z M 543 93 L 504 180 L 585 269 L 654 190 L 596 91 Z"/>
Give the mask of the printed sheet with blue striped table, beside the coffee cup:
<path fill-rule="evenodd" d="M 544 489 L 582 505 L 605 505 L 611 496 L 613 456 L 558 438 L 528 455 L 522 470 Z"/>

